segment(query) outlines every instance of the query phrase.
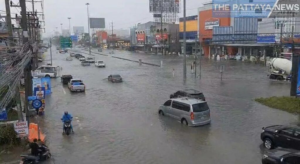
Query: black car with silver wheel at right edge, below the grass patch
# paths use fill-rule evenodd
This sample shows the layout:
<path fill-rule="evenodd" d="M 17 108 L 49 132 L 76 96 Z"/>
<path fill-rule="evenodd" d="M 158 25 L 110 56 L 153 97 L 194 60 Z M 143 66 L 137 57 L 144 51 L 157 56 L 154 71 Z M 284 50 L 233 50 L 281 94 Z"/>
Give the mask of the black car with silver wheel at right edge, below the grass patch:
<path fill-rule="evenodd" d="M 300 128 L 282 125 L 262 127 L 260 139 L 268 149 L 280 146 L 300 150 Z"/>

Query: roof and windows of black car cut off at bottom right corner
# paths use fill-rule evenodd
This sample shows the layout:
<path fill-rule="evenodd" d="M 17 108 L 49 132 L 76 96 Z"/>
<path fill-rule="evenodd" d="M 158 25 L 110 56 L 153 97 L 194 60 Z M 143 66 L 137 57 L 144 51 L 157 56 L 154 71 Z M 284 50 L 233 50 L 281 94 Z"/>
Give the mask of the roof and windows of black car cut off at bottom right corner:
<path fill-rule="evenodd" d="M 300 152 L 292 149 L 277 148 L 262 156 L 262 164 L 299 164 Z"/>

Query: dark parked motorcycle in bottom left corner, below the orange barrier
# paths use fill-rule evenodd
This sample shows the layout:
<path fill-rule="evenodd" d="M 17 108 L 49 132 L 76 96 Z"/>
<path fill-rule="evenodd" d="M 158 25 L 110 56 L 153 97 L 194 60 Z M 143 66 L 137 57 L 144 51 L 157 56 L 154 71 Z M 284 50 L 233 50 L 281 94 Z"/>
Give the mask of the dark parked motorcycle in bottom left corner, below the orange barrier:
<path fill-rule="evenodd" d="M 51 153 L 46 145 L 41 145 L 38 147 L 39 156 L 32 156 L 31 154 L 22 154 L 19 164 L 37 164 L 51 158 Z"/>

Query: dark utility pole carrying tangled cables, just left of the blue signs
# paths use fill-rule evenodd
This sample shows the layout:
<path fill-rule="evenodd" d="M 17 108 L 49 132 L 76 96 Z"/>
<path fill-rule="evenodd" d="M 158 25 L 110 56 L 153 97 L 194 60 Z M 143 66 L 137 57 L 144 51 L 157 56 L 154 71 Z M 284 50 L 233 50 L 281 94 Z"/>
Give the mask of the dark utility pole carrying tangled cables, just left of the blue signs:
<path fill-rule="evenodd" d="M 22 11 L 22 40 L 23 44 L 26 44 L 28 42 L 28 29 L 27 29 L 27 15 L 26 15 L 26 1 L 20 0 L 20 6 Z M 32 95 L 32 84 L 31 84 L 31 68 L 30 63 L 27 64 L 27 66 L 24 69 L 24 75 L 25 75 L 25 112 L 26 112 L 26 121 L 29 125 L 29 104 L 28 104 L 28 96 Z"/>

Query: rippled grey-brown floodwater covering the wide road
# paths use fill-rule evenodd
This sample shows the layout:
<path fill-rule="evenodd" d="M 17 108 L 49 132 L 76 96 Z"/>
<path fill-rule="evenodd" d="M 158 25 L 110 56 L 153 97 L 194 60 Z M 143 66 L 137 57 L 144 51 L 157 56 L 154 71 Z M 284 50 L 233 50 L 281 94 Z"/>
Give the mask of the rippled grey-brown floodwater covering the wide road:
<path fill-rule="evenodd" d="M 187 59 L 187 79 L 182 76 L 182 57 L 115 51 L 94 54 L 105 68 L 81 66 L 67 54 L 53 50 L 53 65 L 86 84 L 85 92 L 70 92 L 60 78 L 52 79 L 46 97 L 46 115 L 39 122 L 56 164 L 176 164 L 261 163 L 264 151 L 262 126 L 298 124 L 298 117 L 254 102 L 256 97 L 289 95 L 289 83 L 269 81 L 259 65 L 238 61 L 202 61 L 202 77 L 194 78 Z M 76 49 L 77 51 L 83 51 Z M 95 51 L 95 50 L 92 50 Z M 48 51 L 49 54 L 49 51 Z M 87 54 L 82 54 L 88 56 Z M 160 65 L 163 68 L 112 58 Z M 48 57 L 48 56 L 47 56 Z M 48 57 L 49 58 L 49 57 Z M 223 81 L 220 65 L 225 65 Z M 172 68 L 176 69 L 174 77 Z M 199 68 L 197 69 L 199 72 Z M 120 74 L 123 83 L 110 83 L 107 76 Z M 173 118 L 158 115 L 158 106 L 179 89 L 192 88 L 205 94 L 211 124 L 187 127 Z M 75 133 L 62 135 L 61 116 L 73 117 Z M 18 162 L 16 162 L 18 163 Z"/>

